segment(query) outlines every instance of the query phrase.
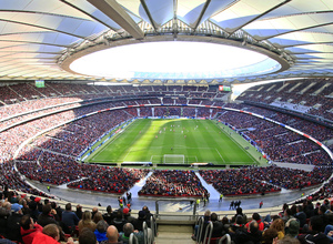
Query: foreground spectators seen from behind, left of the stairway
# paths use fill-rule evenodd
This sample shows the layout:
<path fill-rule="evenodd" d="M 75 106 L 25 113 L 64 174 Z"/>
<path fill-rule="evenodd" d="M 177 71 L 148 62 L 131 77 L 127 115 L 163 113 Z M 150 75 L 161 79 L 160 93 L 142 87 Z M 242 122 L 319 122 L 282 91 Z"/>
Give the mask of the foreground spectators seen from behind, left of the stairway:
<path fill-rule="evenodd" d="M 1 243 L 24 244 L 108 244 L 128 243 L 133 233 L 139 244 L 151 238 L 151 217 L 147 206 L 131 216 L 130 206 L 103 213 L 98 207 L 83 210 L 72 203 L 58 205 L 53 200 L 18 194 L 4 189 L 0 191 L 0 235 Z M 74 209 L 74 210 L 73 210 Z M 143 232 L 142 223 L 149 226 Z"/>

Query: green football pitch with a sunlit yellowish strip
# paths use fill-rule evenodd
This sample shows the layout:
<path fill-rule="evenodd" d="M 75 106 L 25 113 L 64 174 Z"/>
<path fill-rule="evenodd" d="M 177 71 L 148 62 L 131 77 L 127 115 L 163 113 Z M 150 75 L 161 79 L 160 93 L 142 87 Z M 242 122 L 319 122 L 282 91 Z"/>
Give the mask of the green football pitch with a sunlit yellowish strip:
<path fill-rule="evenodd" d="M 211 120 L 138 119 L 85 162 L 258 164 L 260 154 L 249 152 L 250 143 L 223 126 Z"/>

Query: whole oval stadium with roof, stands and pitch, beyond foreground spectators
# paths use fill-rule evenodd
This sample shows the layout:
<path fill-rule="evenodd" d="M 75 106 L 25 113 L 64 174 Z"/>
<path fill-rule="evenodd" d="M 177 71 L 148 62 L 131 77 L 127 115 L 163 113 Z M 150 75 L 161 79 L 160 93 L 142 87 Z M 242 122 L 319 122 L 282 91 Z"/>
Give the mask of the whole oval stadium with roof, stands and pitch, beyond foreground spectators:
<path fill-rule="evenodd" d="M 233 224 L 235 202 L 251 218 L 331 201 L 332 9 L 2 1 L 1 209 L 42 197 L 105 213 L 130 193 L 132 215 L 148 206 L 170 235 L 209 210 Z M 171 240 L 193 243 L 185 235 Z"/>

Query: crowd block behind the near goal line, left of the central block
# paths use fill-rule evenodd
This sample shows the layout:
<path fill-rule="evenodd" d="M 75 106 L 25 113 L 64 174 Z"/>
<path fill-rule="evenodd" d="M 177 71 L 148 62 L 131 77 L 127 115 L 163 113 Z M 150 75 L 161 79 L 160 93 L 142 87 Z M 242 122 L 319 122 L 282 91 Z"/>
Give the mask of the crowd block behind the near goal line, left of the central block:
<path fill-rule="evenodd" d="M 72 157 L 49 152 L 42 152 L 38 163 L 21 161 L 17 162 L 17 167 L 29 180 L 108 193 L 128 191 L 149 172 L 149 170 L 81 164 Z M 77 180 L 81 181 L 73 182 Z"/>

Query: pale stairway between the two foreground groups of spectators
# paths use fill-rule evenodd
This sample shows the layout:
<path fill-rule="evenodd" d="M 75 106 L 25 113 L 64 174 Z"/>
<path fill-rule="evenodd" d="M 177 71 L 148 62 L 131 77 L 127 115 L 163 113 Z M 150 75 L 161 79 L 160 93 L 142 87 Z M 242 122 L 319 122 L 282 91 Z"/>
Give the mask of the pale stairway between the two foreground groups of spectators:
<path fill-rule="evenodd" d="M 155 244 L 194 244 L 192 225 L 159 225 Z"/>

